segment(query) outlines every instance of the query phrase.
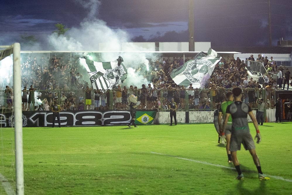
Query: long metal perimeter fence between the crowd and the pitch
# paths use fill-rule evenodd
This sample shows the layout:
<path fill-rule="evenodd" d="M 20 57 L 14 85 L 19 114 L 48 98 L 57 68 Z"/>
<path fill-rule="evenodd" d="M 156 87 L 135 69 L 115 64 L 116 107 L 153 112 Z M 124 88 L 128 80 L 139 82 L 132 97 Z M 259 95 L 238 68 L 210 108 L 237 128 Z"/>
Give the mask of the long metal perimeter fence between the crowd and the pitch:
<path fill-rule="evenodd" d="M 217 104 L 222 103 L 226 100 L 225 94 L 228 91 L 231 91 L 232 89 L 225 89 L 225 88 L 215 88 L 216 90 L 210 90 L 210 89 L 199 89 L 199 99 L 198 101 L 195 100 L 192 96 L 192 99 L 189 99 L 188 91 L 185 90 L 184 93 L 181 92 L 181 89 L 157 89 L 157 99 L 155 101 L 146 101 L 145 105 L 140 104 L 140 106 L 137 109 L 156 109 L 157 111 L 168 111 L 168 104 L 171 101 L 171 98 L 174 98 L 174 101 L 178 105 L 178 111 L 211 111 L 216 109 Z M 127 90 L 128 93 L 126 95 L 126 99 L 128 100 L 129 90 Z M 49 94 L 52 95 L 49 95 Z M 45 101 L 49 100 L 48 102 L 53 102 L 54 99 L 58 102 L 58 104 L 61 104 L 63 106 L 63 102 L 61 102 L 60 97 L 62 94 L 65 94 L 67 98 L 69 98 L 69 95 L 72 93 L 73 98 L 70 100 L 67 99 L 67 103 L 71 102 L 76 110 L 78 110 L 79 102 L 82 102 L 82 104 L 85 103 L 86 99 L 86 92 L 84 90 L 35 90 L 33 93 L 31 93 L 31 104 L 30 104 L 30 111 L 33 111 L 37 109 L 35 106 L 39 106 L 40 104 L 45 104 Z M 215 94 L 214 94 L 215 93 Z M 140 89 L 133 90 L 133 94 L 138 97 L 138 100 L 140 100 L 141 91 Z M 185 94 L 185 98 L 183 98 L 183 94 Z M 0 91 L 0 106 L 3 112 L 6 112 L 6 99 L 5 99 L 5 93 L 4 91 Z M 117 107 L 116 104 L 116 91 L 115 90 L 102 90 L 103 98 L 100 96 L 100 103 L 101 99 L 104 99 L 106 106 L 101 106 L 98 109 L 99 110 L 114 110 L 114 109 L 128 109 L 127 105 L 128 102 L 125 102 L 125 105 L 123 105 L 121 108 Z M 95 92 L 91 91 L 91 105 L 90 109 L 95 109 L 94 104 L 94 98 L 95 98 Z M 249 103 L 250 107 L 252 109 L 257 109 L 256 100 L 259 98 L 263 98 L 264 102 L 267 103 L 267 108 L 270 108 L 275 103 L 275 89 L 257 89 L 257 88 L 246 88 L 243 89 L 243 96 L 242 101 Z M 158 101 L 160 100 L 160 102 Z M 252 101 L 252 102 L 250 102 Z M 198 102 L 198 104 L 195 104 Z M 66 104 L 67 105 L 67 104 Z M 207 106 L 205 106 L 207 105 Z M 126 108 L 124 107 L 126 106 Z M 63 108 L 66 109 L 66 108 Z"/>

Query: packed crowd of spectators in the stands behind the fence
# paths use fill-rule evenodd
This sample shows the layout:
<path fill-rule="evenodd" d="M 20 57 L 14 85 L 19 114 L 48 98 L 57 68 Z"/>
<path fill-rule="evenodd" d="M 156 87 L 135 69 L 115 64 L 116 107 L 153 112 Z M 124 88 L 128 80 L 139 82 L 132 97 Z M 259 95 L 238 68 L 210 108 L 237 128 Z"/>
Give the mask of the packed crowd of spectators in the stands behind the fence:
<path fill-rule="evenodd" d="M 51 59 L 41 59 L 30 56 L 21 64 L 22 86 L 33 85 L 37 98 L 42 104 L 35 107 L 35 110 L 48 110 L 54 101 L 58 101 L 63 110 L 83 110 L 83 109 L 127 109 L 127 97 L 130 94 L 138 96 L 141 101 L 138 109 L 167 109 L 167 105 L 174 98 L 179 109 L 205 109 L 216 108 L 216 104 L 221 104 L 225 100 L 225 93 L 233 87 L 243 89 L 243 101 L 250 107 L 255 108 L 258 98 L 266 97 L 267 103 L 273 105 L 274 89 L 277 87 L 276 80 L 265 75 L 263 81 L 248 79 L 246 61 L 234 59 L 234 57 L 222 57 L 215 65 L 214 72 L 203 89 L 195 89 L 192 84 L 189 86 L 178 86 L 170 77 L 172 70 L 182 66 L 193 57 L 170 57 L 152 62 L 149 60 L 149 67 L 145 64 L 137 65 L 136 74 L 147 79 L 149 85 L 142 86 L 118 86 L 113 90 L 92 90 L 90 96 L 93 100 L 91 104 L 86 103 L 89 99 L 86 87 L 88 82 L 83 79 L 82 67 L 77 58 L 63 59 L 62 56 L 53 56 Z M 248 60 L 255 60 L 253 56 Z M 276 63 L 258 55 L 255 61 L 267 62 L 274 68 L 271 71 L 281 71 L 281 66 L 277 68 Z M 284 69 L 284 68 L 283 68 Z M 282 69 L 282 70 L 283 70 Z M 291 84 L 291 82 L 290 82 Z M 263 90 L 264 89 L 264 90 Z M 94 92 L 94 93 L 91 93 Z M 265 93 L 265 94 L 263 94 Z M 32 109 L 30 109 L 32 110 Z"/>

